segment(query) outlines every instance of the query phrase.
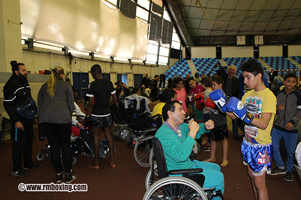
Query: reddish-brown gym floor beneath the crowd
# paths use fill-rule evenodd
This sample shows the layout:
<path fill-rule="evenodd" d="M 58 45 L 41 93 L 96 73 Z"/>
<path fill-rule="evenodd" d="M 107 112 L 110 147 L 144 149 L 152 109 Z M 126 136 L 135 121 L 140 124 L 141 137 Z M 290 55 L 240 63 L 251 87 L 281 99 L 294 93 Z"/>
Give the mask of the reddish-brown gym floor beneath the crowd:
<path fill-rule="evenodd" d="M 82 106 L 81 106 L 82 108 Z M 191 109 L 191 108 L 190 108 Z M 189 108 L 188 108 L 189 112 Z M 247 167 L 242 164 L 240 146 L 242 140 L 235 140 L 232 135 L 231 120 L 228 120 L 229 129 L 229 152 L 227 167 L 221 168 L 225 179 L 224 197 L 226 200 L 254 200 L 251 180 Z M 1 193 L 3 200 L 30 199 L 30 200 L 66 200 L 66 199 L 100 199 L 100 200 L 141 200 L 145 194 L 145 177 L 149 168 L 139 166 L 134 160 L 134 147 L 129 147 L 123 141 L 114 139 L 116 152 L 114 160 L 116 168 L 107 165 L 109 157 L 99 160 L 100 169 L 89 169 L 88 164 L 93 160 L 83 154 L 77 157 L 78 162 L 72 166 L 77 179 L 72 184 L 87 184 L 87 192 L 20 192 L 18 185 L 24 184 L 48 184 L 55 183 L 55 171 L 49 158 L 43 161 L 36 160 L 36 154 L 44 149 L 47 140 L 39 141 L 37 129 L 34 131 L 35 141 L 33 144 L 33 161 L 42 165 L 41 169 L 25 169 L 26 177 L 12 176 L 12 141 L 7 140 L 7 151 L 0 148 L 1 169 Z M 101 139 L 104 139 L 103 133 Z M 202 161 L 210 157 L 210 152 L 201 151 L 197 159 Z M 216 163 L 222 159 L 221 145 L 217 145 Z M 285 160 L 285 157 L 283 157 Z M 275 167 L 273 162 L 272 168 Z M 268 175 L 266 183 L 270 200 L 300 200 L 301 181 L 296 170 L 293 172 L 294 181 L 284 181 L 285 175 Z M 63 179 L 64 181 L 64 179 Z"/>

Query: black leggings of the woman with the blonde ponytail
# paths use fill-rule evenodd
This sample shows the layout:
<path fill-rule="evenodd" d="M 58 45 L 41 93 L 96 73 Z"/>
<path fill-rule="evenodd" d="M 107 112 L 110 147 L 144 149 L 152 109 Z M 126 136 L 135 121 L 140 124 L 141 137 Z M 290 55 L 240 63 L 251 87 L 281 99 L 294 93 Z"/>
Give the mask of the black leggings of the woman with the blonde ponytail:
<path fill-rule="evenodd" d="M 66 173 L 71 172 L 71 123 L 40 123 L 50 145 L 50 158 L 56 173 L 62 172 L 61 153 Z"/>

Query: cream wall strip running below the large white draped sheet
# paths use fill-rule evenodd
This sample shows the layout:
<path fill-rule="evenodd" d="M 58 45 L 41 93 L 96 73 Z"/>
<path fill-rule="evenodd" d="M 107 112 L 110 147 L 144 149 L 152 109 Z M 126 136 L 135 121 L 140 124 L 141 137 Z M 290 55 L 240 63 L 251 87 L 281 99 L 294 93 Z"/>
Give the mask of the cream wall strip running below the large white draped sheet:
<path fill-rule="evenodd" d="M 128 85 L 129 87 L 134 86 L 134 74 L 149 74 L 149 77 L 152 78 L 155 75 L 164 74 L 167 71 L 167 65 L 159 66 L 150 66 L 138 64 L 138 63 L 129 63 L 129 62 L 118 62 L 111 60 L 105 60 L 100 58 L 95 58 L 91 60 L 88 56 L 72 54 L 74 59 L 72 60 L 71 65 L 69 65 L 69 59 L 63 54 L 62 51 L 55 51 L 45 48 L 34 47 L 36 51 L 25 50 L 26 45 L 23 45 L 23 58 L 22 61 L 28 71 L 31 71 L 32 74 L 38 74 L 39 71 L 53 68 L 55 64 L 59 63 L 59 66 L 63 67 L 65 71 L 72 72 L 89 72 L 91 67 L 94 64 L 99 64 L 102 70 L 105 70 L 104 73 L 110 73 L 111 81 L 113 84 L 117 81 L 117 74 L 128 74 Z M 40 52 L 37 52 L 40 51 Z M 42 52 L 43 51 L 43 52 Z M 113 63 L 113 66 L 110 66 L 110 63 Z M 82 69 L 82 71 L 80 71 Z M 72 79 L 72 76 L 71 76 Z M 91 75 L 89 75 L 89 81 L 93 81 Z"/>

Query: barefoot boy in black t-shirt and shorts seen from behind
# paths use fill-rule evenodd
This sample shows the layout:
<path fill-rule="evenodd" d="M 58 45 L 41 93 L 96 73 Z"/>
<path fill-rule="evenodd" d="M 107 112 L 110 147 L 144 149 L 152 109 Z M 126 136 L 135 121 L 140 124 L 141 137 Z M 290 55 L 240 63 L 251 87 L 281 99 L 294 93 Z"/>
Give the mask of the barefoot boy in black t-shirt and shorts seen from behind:
<path fill-rule="evenodd" d="M 101 76 L 101 67 L 95 64 L 91 67 L 91 75 L 95 81 L 88 86 L 86 96 L 89 97 L 87 117 L 90 117 L 92 132 L 94 135 L 94 165 L 89 168 L 99 169 L 99 149 L 100 149 L 100 127 L 103 128 L 104 136 L 108 141 L 110 149 L 110 167 L 115 168 L 114 164 L 114 144 L 111 137 L 112 119 L 110 115 L 110 107 L 117 101 L 116 91 L 111 81 Z M 111 95 L 113 97 L 110 102 Z M 94 105 L 93 105 L 94 98 Z"/>

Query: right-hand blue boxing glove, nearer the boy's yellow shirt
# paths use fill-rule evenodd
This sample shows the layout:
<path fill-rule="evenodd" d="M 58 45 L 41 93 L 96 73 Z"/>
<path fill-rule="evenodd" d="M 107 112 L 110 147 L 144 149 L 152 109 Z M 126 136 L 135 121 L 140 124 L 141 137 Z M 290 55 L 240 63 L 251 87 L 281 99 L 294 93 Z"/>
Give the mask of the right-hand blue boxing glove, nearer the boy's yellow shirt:
<path fill-rule="evenodd" d="M 254 119 L 254 116 L 248 112 L 247 108 L 245 107 L 244 103 L 240 101 L 235 96 L 231 97 L 227 104 L 227 110 L 229 112 L 233 112 L 238 118 L 240 118 L 245 123 L 250 124 Z"/>

